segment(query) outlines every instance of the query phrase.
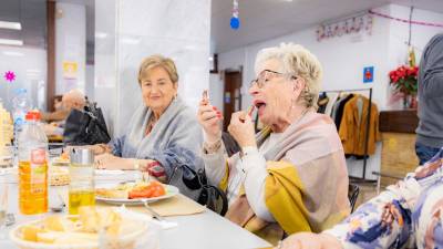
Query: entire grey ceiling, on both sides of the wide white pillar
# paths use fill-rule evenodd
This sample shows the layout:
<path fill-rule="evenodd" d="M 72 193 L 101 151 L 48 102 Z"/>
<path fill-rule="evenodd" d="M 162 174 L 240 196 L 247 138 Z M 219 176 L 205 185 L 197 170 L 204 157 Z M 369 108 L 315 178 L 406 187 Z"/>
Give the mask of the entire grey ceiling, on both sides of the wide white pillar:
<path fill-rule="evenodd" d="M 54 0 L 86 7 L 86 54 L 94 53 L 94 0 Z M 443 0 L 238 0 L 241 27 L 229 28 L 233 0 L 212 0 L 212 51 L 220 53 L 292 33 L 320 22 L 387 3 L 414 6 L 443 13 Z M 22 30 L 0 29 L 0 38 L 20 39 L 25 46 L 45 48 L 45 0 L 1 0 L 0 20 L 20 21 Z"/>

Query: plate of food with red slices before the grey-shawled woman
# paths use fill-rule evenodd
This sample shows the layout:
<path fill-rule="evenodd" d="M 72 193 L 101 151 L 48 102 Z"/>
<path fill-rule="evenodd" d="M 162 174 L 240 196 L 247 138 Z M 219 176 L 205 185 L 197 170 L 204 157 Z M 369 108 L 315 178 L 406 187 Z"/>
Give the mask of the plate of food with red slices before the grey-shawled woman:
<path fill-rule="evenodd" d="M 178 188 L 161 184 L 156 180 L 150 183 L 122 183 L 117 185 L 100 185 L 95 188 L 95 199 L 116 205 L 141 205 L 144 201 L 153 203 L 176 196 Z"/>

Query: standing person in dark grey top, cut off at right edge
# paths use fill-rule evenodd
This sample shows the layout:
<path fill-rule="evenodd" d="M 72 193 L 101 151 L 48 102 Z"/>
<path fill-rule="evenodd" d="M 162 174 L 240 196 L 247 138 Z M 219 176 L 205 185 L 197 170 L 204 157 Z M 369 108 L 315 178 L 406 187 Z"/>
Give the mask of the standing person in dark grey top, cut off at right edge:
<path fill-rule="evenodd" d="M 423 50 L 418 96 L 415 153 L 422 165 L 443 146 L 443 33 L 433 37 Z"/>

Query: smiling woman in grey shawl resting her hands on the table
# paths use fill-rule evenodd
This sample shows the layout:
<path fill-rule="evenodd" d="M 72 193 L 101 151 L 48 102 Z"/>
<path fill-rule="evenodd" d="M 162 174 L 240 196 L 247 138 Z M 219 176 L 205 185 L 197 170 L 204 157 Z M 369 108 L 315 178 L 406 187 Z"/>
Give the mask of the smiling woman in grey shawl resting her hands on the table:
<path fill-rule="evenodd" d="M 202 167 L 203 133 L 195 113 L 177 96 L 178 74 L 173 60 L 143 60 L 138 84 L 144 105 L 127 123 L 126 133 L 107 145 L 94 145 L 96 165 L 107 169 L 141 169 L 166 180 L 178 164 Z"/>

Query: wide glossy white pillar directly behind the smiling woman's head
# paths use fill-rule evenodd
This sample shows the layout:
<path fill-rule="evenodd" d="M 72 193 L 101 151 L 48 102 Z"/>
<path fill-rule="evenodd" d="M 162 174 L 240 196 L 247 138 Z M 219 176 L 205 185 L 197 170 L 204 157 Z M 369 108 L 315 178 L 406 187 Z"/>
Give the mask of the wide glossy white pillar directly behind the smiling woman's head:
<path fill-rule="evenodd" d="M 143 104 L 138 66 L 152 54 L 175 61 L 178 95 L 197 108 L 203 90 L 209 87 L 210 0 L 97 0 L 95 13 L 95 32 L 110 32 L 107 38 L 115 40 L 111 44 L 95 39 L 95 98 L 110 113 L 114 135 L 123 134 Z"/>

